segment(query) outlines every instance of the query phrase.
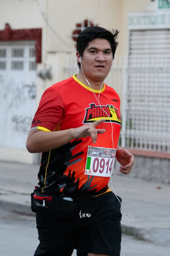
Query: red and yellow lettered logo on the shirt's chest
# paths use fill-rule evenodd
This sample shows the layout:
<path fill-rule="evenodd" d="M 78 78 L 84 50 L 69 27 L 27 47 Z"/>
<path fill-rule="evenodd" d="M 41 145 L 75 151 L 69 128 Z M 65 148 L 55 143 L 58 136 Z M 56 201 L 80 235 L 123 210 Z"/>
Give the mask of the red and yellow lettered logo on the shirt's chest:
<path fill-rule="evenodd" d="M 102 118 L 105 118 L 107 122 L 121 123 L 120 111 L 113 105 L 96 106 L 95 103 L 92 103 L 85 110 L 86 113 L 83 123 L 91 123 Z"/>

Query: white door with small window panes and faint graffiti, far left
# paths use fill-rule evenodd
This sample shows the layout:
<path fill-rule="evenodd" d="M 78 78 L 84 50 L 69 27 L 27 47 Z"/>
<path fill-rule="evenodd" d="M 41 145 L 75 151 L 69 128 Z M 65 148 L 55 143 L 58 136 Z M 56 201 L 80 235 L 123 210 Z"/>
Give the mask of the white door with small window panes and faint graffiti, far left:
<path fill-rule="evenodd" d="M 0 42 L 0 146 L 26 148 L 36 106 L 35 42 Z"/>

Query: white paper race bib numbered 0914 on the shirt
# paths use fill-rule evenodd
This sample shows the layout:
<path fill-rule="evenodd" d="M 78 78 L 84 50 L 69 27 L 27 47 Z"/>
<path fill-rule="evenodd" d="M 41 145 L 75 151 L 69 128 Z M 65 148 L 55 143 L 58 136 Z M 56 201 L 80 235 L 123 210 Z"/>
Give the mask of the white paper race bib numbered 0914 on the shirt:
<path fill-rule="evenodd" d="M 85 174 L 110 177 L 115 163 L 115 148 L 88 146 Z"/>

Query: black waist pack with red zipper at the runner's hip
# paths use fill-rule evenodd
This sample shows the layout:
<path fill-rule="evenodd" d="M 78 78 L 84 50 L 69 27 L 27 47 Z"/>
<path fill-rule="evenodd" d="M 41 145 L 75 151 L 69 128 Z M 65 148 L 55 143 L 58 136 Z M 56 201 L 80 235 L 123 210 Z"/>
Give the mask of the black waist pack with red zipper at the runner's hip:
<path fill-rule="evenodd" d="M 32 212 L 54 213 L 57 217 L 71 217 L 78 210 L 78 203 L 71 197 L 42 194 L 37 190 L 31 193 Z"/>

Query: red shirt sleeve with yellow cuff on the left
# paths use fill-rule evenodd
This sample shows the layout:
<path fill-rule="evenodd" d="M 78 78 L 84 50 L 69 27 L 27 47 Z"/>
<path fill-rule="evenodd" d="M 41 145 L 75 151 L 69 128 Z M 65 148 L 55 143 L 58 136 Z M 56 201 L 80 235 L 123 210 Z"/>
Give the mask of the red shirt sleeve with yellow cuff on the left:
<path fill-rule="evenodd" d="M 48 88 L 40 99 L 32 121 L 31 130 L 54 131 L 64 117 L 64 100 L 54 86 Z"/>

